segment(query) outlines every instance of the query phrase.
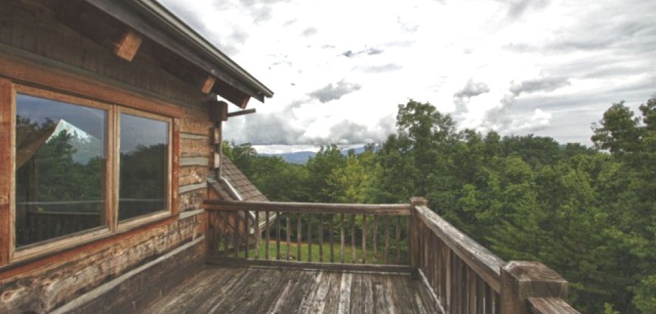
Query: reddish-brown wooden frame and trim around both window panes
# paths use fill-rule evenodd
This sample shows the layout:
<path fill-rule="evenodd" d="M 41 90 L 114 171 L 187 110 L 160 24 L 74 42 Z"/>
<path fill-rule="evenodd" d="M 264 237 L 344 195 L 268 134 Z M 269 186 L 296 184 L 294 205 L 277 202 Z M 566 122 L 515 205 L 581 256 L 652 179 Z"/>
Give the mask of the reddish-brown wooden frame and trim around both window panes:
<path fill-rule="evenodd" d="M 16 184 L 16 169 L 15 169 L 15 137 L 16 137 L 16 109 L 17 109 L 17 95 L 24 94 L 38 98 L 45 98 L 72 105 L 80 105 L 84 107 L 91 107 L 94 109 L 103 110 L 106 112 L 107 129 L 106 129 L 106 143 L 105 143 L 105 225 L 94 227 L 89 230 L 75 232 L 73 234 L 66 234 L 61 237 L 47 239 L 34 244 L 28 244 L 20 248 L 15 246 L 15 184 Z M 120 97 L 119 97 L 120 98 Z M 171 218 L 177 215 L 177 184 L 174 180 L 174 173 L 176 168 L 179 167 L 177 160 L 179 160 L 179 151 L 176 147 L 179 146 L 177 139 L 177 130 L 179 125 L 179 117 L 170 115 L 171 107 L 163 107 L 160 111 L 157 110 L 147 111 L 154 108 L 153 103 L 147 99 L 135 98 L 134 96 L 127 96 L 126 103 L 135 103 L 142 100 L 145 104 L 142 106 L 123 105 L 115 101 L 103 100 L 89 95 L 78 96 L 76 94 L 60 91 L 57 89 L 50 89 L 40 87 L 38 85 L 17 83 L 11 80 L 3 79 L 0 77 L 0 113 L 8 114 L 8 124 L 0 125 L 0 131 L 8 130 L 8 143 L 0 139 L 0 157 L 9 156 L 10 162 L 8 169 L 0 168 L 0 193 L 8 190 L 8 199 L 0 200 L 0 267 L 6 264 L 14 264 L 16 262 L 25 262 L 33 260 L 34 258 L 50 255 L 57 251 L 74 248 L 84 244 L 89 244 L 100 239 L 113 237 L 117 234 L 129 232 L 138 229 L 144 225 L 156 223 L 163 219 Z M 6 105 L 8 103 L 9 105 Z M 118 200 L 119 200 L 119 159 L 120 159 L 120 116 L 121 113 L 131 114 L 137 117 L 147 119 L 155 119 L 167 123 L 167 181 L 166 181 L 166 207 L 161 211 L 156 211 L 151 214 L 145 214 L 130 218 L 119 223 L 118 221 Z M 4 122 L 0 119 L 0 122 Z M 6 151 L 8 150 L 8 151 Z M 6 154 L 8 153 L 8 154 Z M 3 173 L 6 172 L 6 173 Z M 8 204 L 7 204 L 8 203 Z M 8 205 L 8 206 L 7 206 Z"/>

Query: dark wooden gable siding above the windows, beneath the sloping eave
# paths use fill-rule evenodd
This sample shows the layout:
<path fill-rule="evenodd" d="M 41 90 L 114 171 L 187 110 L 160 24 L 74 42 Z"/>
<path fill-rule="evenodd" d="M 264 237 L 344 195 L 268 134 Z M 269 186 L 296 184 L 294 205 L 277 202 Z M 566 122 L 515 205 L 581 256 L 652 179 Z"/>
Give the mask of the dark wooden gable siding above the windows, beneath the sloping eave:
<path fill-rule="evenodd" d="M 117 57 L 113 49 L 98 45 L 61 24 L 58 19 L 67 17 L 52 11 L 51 7 L 56 7 L 57 2 L 0 1 L 0 51 L 49 63 L 92 80 L 176 105 L 191 107 L 204 103 L 207 95 L 196 82 L 181 82 L 160 68 L 158 63 L 138 53 L 133 61 L 125 61 Z M 70 6 L 74 1 L 59 2 Z M 107 24 L 107 28 L 110 26 Z M 94 31 L 102 33 L 107 29 Z"/>

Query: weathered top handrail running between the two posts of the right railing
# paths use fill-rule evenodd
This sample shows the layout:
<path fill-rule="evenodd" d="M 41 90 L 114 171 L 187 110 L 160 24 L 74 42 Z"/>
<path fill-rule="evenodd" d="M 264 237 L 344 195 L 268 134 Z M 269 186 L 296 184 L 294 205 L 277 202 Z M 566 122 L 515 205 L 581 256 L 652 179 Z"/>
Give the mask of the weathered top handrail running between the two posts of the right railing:
<path fill-rule="evenodd" d="M 501 291 L 501 268 L 506 262 L 435 214 L 426 206 L 415 207 L 421 219 L 449 248 L 492 287 Z"/>

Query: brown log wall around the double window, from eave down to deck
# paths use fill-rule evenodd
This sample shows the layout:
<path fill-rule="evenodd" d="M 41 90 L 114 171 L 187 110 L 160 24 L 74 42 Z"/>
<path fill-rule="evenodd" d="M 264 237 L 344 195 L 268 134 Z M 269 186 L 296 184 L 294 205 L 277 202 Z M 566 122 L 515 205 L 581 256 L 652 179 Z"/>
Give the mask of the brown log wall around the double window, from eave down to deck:
<path fill-rule="evenodd" d="M 137 51 L 132 61 L 126 61 L 105 45 L 82 36 L 66 25 L 66 16 L 53 11 L 67 3 L 0 0 L 0 83 L 8 82 L 0 88 L 17 82 L 174 117 L 172 213 L 19 262 L 9 260 L 9 245 L 2 243 L 7 237 L 1 233 L 0 313 L 52 311 L 204 234 L 200 209 L 208 193 L 212 127 L 204 105 L 207 94 L 195 87 L 195 82 L 184 82 L 163 70 L 147 55 Z M 149 45 L 144 43 L 142 49 L 152 50 Z M 1 97 L 8 94 L 0 89 L 0 112 L 10 105 Z M 0 137 L 0 145 L 6 142 Z M 0 153 L 4 152 L 6 147 L 0 148 Z M 3 170 L 0 175 L 10 171 Z M 6 205 L 0 197 L 0 218 L 10 214 Z"/>

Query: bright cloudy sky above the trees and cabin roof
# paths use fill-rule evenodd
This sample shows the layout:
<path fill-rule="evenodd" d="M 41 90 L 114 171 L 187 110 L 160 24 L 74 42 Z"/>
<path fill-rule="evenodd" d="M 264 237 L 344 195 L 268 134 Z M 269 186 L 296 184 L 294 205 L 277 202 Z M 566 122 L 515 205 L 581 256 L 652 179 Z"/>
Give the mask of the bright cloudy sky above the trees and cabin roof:
<path fill-rule="evenodd" d="M 160 1 L 274 91 L 224 126 L 260 152 L 382 142 L 410 99 L 590 146 L 611 104 L 656 93 L 653 0 Z"/>

